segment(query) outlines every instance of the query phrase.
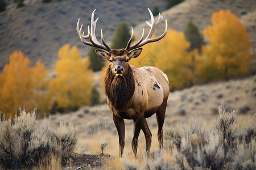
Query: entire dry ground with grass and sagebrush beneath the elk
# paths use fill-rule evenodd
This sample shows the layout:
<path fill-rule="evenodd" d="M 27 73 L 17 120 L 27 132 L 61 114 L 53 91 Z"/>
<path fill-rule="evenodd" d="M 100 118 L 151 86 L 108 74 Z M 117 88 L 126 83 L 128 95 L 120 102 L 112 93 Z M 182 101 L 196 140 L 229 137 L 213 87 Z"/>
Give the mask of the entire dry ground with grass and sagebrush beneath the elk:
<path fill-rule="evenodd" d="M 1 169 L 255 169 L 256 76 L 170 92 L 159 150 L 155 115 L 149 158 L 143 133 L 131 149 L 133 121 L 126 120 L 125 150 L 105 97 L 93 107 L 36 118 L 20 110 L 0 121 Z M 84 167 L 83 167 L 84 166 Z"/>

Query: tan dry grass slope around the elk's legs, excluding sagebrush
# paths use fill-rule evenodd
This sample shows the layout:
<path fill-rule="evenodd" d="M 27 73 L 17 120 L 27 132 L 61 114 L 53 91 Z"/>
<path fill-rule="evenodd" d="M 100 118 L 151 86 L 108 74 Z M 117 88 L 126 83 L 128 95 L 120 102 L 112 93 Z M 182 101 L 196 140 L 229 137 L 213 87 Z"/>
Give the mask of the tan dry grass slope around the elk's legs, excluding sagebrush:
<path fill-rule="evenodd" d="M 183 129 L 185 128 L 188 131 L 197 129 L 201 131 L 200 133 L 203 133 L 202 131 L 209 132 L 216 126 L 216 119 L 220 116 L 218 114 L 218 106 L 220 105 L 224 106 L 226 111 L 230 113 L 232 109 L 237 111 L 237 121 L 234 122 L 235 125 L 232 127 L 233 129 L 238 129 L 240 133 L 244 133 L 244 130 L 249 127 L 254 127 L 255 130 L 255 120 L 253 118 L 253 113 L 256 111 L 255 98 L 255 75 L 245 79 L 210 83 L 204 86 L 193 86 L 181 91 L 171 92 L 168 99 L 166 120 L 164 123 L 164 133 L 166 135 L 164 143 L 166 148 L 163 150 L 163 160 L 167 160 L 167 163 L 175 162 L 174 151 L 169 150 L 169 147 L 174 145 L 174 143 L 169 143 L 172 140 L 168 131 L 170 133 L 170 131 L 175 129 L 175 131 L 181 131 L 180 133 L 182 134 L 185 132 Z M 78 157 L 77 161 L 81 165 L 89 163 L 91 167 L 98 166 L 98 168 L 103 169 L 132 169 L 130 164 L 134 164 L 135 168 L 143 168 L 143 166 L 148 163 L 144 156 L 146 142 L 144 141 L 143 133 L 141 132 L 138 142 L 139 158 L 134 159 L 131 149 L 133 121 L 125 121 L 126 145 L 124 158 L 119 159 L 118 135 L 110 110 L 105 102 L 105 98 L 102 98 L 101 101 L 98 102 L 98 105 L 94 107 L 80 108 L 77 112 L 67 114 L 54 114 L 51 116 L 51 123 L 53 127 L 57 127 L 60 121 L 71 121 L 73 126 L 77 128 L 77 136 L 79 137 L 76 152 L 78 154 L 98 155 L 98 157 L 95 156 L 92 159 L 86 158 L 84 163 L 82 163 Z M 147 118 L 147 121 L 152 132 L 152 159 L 149 161 L 152 168 L 152 164 L 155 165 L 157 163 L 154 162 L 154 155 L 159 154 L 155 115 Z M 255 141 L 255 131 L 253 135 Z M 199 138 L 198 136 L 199 134 L 197 134 L 196 137 L 194 136 L 194 138 Z M 103 157 L 100 156 L 102 142 L 108 143 L 104 149 L 105 156 Z M 109 158 L 111 159 L 109 160 Z M 108 161 L 106 161 L 106 159 Z M 88 160 L 90 160 L 90 162 L 88 162 Z M 76 159 L 74 161 L 76 162 Z M 100 165 L 101 167 L 99 167 Z M 228 169 L 228 167 L 226 168 Z"/>

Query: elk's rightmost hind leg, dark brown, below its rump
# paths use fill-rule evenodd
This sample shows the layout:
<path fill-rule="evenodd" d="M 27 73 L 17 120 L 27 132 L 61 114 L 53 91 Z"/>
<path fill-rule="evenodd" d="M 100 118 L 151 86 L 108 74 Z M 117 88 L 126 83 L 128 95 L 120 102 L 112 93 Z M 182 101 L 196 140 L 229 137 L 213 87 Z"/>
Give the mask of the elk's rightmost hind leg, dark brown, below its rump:
<path fill-rule="evenodd" d="M 158 110 L 156 111 L 156 120 L 158 122 L 158 142 L 159 147 L 163 148 L 163 124 L 166 114 L 167 99 L 163 101 Z"/>

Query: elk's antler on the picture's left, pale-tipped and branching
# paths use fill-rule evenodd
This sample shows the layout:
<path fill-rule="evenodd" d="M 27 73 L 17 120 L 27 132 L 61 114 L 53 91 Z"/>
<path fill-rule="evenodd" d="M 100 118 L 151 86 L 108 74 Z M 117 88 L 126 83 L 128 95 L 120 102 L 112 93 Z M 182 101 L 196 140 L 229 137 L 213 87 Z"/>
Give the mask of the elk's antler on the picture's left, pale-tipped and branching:
<path fill-rule="evenodd" d="M 101 41 L 103 43 L 100 44 L 100 42 L 98 42 L 97 38 L 96 38 L 96 35 L 95 35 L 95 29 L 96 29 L 96 23 L 98 21 L 98 18 L 94 21 L 94 12 L 96 11 L 96 9 L 92 12 L 92 19 L 91 19 L 91 26 L 88 25 L 88 35 L 84 35 L 84 32 L 82 32 L 82 25 L 79 29 L 79 22 L 80 22 L 80 18 L 77 22 L 77 25 L 76 25 L 76 32 L 77 34 L 79 35 L 80 37 L 80 40 L 82 42 L 84 42 L 84 44 L 86 45 L 90 45 L 90 46 L 94 46 L 94 47 L 97 47 L 97 48 L 101 48 L 101 49 L 104 49 L 106 50 L 107 52 L 111 52 L 111 48 L 106 44 L 106 42 L 104 41 L 104 38 L 103 38 L 103 33 L 102 33 L 102 29 L 101 29 Z M 89 41 L 86 41 L 85 39 L 89 39 Z"/>

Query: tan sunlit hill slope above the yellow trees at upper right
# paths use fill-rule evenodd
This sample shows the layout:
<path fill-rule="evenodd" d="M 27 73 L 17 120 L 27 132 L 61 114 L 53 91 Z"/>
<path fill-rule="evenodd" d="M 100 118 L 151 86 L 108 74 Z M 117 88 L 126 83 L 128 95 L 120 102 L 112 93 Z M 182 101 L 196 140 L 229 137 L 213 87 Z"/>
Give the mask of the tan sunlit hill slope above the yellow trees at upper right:
<path fill-rule="evenodd" d="M 186 0 L 167 11 L 162 15 L 168 20 L 168 28 L 176 31 L 183 31 L 188 20 L 192 20 L 200 31 L 211 25 L 212 12 L 229 9 L 238 18 L 241 19 L 243 25 L 250 35 L 252 42 L 251 53 L 253 54 L 253 62 L 251 62 L 250 70 L 256 73 L 256 1 L 252 0 Z M 158 18 L 158 17 L 156 17 Z M 140 37 L 142 29 L 149 31 L 146 23 L 138 25 L 135 29 L 135 37 Z M 162 34 L 164 24 L 159 25 L 159 29 L 155 31 L 156 35 Z"/>

